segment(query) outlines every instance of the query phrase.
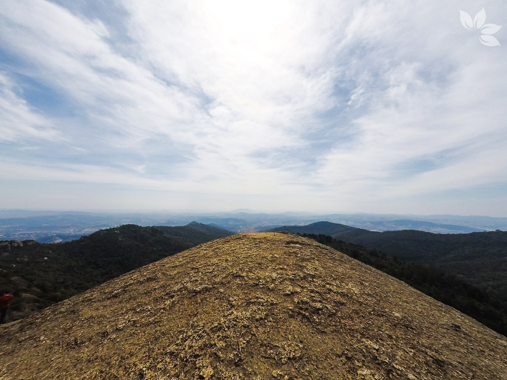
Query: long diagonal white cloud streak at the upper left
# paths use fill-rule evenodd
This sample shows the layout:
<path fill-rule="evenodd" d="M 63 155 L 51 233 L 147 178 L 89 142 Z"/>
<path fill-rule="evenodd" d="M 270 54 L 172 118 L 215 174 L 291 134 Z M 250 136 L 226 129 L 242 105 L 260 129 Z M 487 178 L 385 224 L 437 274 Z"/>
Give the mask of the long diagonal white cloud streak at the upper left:
<path fill-rule="evenodd" d="M 112 129 L 123 136 L 119 144 L 128 146 L 177 134 L 181 124 L 193 122 L 196 99 L 115 53 L 100 21 L 82 20 L 44 1 L 6 2 L 3 13 L 15 25 L 6 23 L 5 45 L 30 63 L 30 75 L 70 96 L 92 123 L 102 124 L 103 137 Z"/>

